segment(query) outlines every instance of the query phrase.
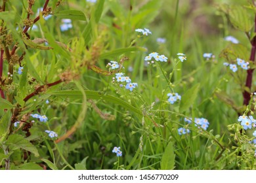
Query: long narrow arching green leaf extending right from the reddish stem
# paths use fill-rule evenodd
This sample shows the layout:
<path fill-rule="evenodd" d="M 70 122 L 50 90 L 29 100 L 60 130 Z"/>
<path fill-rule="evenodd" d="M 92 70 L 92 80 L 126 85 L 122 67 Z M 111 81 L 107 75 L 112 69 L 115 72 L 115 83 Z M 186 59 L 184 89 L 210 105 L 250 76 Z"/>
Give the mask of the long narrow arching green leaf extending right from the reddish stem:
<path fill-rule="evenodd" d="M 56 92 L 49 92 L 47 94 L 55 95 L 58 97 L 73 97 L 77 99 L 78 97 L 82 97 L 82 93 L 78 90 L 64 90 L 64 91 L 56 91 Z M 104 95 L 102 92 L 96 92 L 91 90 L 85 90 L 85 94 L 87 99 L 104 99 L 105 101 L 108 101 L 110 103 L 116 103 L 118 105 L 121 105 L 122 107 L 125 107 L 133 112 L 136 112 L 137 114 L 142 115 L 142 112 L 138 109 L 127 103 L 126 101 L 123 101 L 123 99 L 119 99 L 117 97 L 114 97 L 112 95 Z"/>

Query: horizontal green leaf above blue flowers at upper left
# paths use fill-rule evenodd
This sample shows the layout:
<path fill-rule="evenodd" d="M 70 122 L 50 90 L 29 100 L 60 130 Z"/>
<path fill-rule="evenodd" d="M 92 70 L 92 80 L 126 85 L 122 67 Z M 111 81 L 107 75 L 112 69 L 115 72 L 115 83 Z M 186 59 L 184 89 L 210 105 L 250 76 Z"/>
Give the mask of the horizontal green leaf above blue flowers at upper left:
<path fill-rule="evenodd" d="M 54 16 L 58 16 L 58 18 L 87 21 L 85 14 L 81 10 L 62 10 L 54 13 Z"/>

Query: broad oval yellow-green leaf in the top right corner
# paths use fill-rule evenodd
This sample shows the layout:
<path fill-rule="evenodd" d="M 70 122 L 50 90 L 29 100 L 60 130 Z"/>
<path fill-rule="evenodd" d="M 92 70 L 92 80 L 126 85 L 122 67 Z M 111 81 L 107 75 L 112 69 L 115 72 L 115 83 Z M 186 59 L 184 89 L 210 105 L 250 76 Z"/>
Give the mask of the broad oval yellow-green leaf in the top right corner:
<path fill-rule="evenodd" d="M 253 27 L 253 18 L 240 5 L 230 6 L 228 16 L 232 25 L 240 31 L 249 32 Z"/>

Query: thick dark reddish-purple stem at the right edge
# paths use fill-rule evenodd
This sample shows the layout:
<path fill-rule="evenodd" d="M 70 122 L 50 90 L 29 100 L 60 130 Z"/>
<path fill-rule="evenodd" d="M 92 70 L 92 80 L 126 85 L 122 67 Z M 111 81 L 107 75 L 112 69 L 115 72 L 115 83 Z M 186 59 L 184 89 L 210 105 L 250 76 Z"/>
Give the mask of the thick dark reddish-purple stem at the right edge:
<path fill-rule="evenodd" d="M 255 14 L 254 25 L 255 25 L 255 32 L 256 32 L 256 14 Z M 252 46 L 251 47 L 251 56 L 250 56 L 249 60 L 250 61 L 255 61 L 256 36 L 253 37 L 253 39 L 251 40 L 251 46 Z M 245 87 L 249 88 L 249 90 L 251 90 L 251 83 L 253 81 L 253 71 L 254 71 L 254 69 L 248 69 L 247 70 L 247 78 L 246 78 L 246 82 L 245 82 Z M 244 96 L 244 105 L 249 105 L 249 101 L 251 99 L 251 93 L 244 90 L 243 96 Z"/>

